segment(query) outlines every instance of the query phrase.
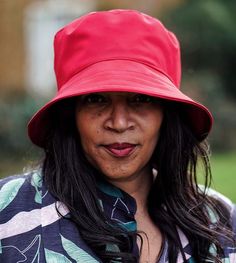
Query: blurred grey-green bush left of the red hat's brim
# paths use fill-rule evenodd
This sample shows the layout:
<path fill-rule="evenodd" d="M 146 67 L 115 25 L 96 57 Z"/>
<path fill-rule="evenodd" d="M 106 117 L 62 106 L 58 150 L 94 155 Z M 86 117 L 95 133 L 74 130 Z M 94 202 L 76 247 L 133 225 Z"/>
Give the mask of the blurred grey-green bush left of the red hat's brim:
<path fill-rule="evenodd" d="M 27 123 L 42 101 L 26 93 L 14 93 L 0 98 L 1 158 L 23 156 L 37 150 L 27 136 Z"/>

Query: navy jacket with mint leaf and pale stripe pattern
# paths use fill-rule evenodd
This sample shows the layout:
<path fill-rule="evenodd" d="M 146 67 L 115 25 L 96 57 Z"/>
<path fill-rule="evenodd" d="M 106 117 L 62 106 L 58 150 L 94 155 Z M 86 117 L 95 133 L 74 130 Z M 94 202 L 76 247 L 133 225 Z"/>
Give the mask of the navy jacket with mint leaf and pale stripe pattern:
<path fill-rule="evenodd" d="M 99 183 L 99 198 L 104 213 L 128 230 L 136 230 L 136 202 L 127 193 L 106 183 Z M 236 229 L 236 208 L 224 196 L 211 192 L 229 207 Z M 59 216 L 68 210 L 56 201 L 42 182 L 40 171 L 0 180 L 0 262 L 1 263 L 97 263 L 101 262 L 81 238 L 75 225 Z M 186 236 L 180 240 L 189 263 L 193 263 Z M 111 249 L 111 248 L 108 248 Z M 165 242 L 157 263 L 168 262 Z M 225 247 L 225 263 L 236 263 L 236 248 Z M 138 256 L 138 246 L 133 254 Z M 182 263 L 179 254 L 177 263 Z"/>

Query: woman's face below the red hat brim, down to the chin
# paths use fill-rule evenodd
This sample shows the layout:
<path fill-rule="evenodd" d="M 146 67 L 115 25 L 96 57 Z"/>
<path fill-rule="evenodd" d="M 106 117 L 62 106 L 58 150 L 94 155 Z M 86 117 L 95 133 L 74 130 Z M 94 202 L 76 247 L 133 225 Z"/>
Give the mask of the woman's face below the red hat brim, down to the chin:
<path fill-rule="evenodd" d="M 111 182 L 150 171 L 162 119 L 160 101 L 137 93 L 92 93 L 76 106 L 85 156 Z"/>

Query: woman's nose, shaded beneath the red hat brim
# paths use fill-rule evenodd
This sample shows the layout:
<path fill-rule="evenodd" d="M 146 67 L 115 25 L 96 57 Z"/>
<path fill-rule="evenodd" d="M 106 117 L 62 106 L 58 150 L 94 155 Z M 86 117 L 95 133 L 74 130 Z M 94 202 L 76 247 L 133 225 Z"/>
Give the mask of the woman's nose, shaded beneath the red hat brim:
<path fill-rule="evenodd" d="M 109 110 L 108 118 L 104 123 L 106 130 L 122 133 L 134 128 L 129 107 L 125 102 L 114 102 Z"/>

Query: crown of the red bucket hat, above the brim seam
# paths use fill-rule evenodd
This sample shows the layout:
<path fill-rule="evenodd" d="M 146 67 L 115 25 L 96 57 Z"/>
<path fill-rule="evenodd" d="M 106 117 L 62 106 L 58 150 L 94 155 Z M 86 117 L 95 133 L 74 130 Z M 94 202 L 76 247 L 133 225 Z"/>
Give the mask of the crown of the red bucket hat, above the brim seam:
<path fill-rule="evenodd" d="M 54 40 L 58 89 L 84 68 L 106 60 L 131 60 L 180 85 L 180 48 L 156 18 L 134 10 L 92 12 L 62 28 Z"/>

